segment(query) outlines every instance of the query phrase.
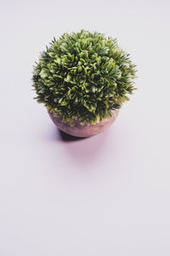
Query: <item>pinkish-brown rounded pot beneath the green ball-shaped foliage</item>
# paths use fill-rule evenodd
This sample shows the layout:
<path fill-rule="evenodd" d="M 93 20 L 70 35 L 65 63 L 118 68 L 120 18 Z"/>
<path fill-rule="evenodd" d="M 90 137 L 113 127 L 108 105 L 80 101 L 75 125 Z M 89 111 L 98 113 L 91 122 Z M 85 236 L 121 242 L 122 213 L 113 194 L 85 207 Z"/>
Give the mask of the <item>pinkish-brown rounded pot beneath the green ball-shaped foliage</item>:
<path fill-rule="evenodd" d="M 49 117 L 53 120 L 55 125 L 65 132 L 76 137 L 90 137 L 96 134 L 100 134 L 105 131 L 106 128 L 111 126 L 111 123 L 115 121 L 119 110 L 113 111 L 115 117 L 110 117 L 96 124 L 81 124 L 78 120 L 74 120 L 74 126 L 71 126 L 69 122 L 62 122 L 61 117 L 54 117 L 53 112 L 49 113 Z"/>

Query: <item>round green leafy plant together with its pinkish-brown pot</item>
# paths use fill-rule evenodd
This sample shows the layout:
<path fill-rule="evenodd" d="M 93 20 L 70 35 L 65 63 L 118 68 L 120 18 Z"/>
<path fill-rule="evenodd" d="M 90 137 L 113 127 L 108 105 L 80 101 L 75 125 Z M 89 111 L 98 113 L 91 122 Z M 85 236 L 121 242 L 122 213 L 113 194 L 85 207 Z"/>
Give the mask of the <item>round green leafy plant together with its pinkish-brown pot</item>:
<path fill-rule="evenodd" d="M 92 136 L 115 121 L 133 94 L 135 71 L 116 39 L 85 30 L 64 33 L 34 66 L 35 99 L 65 133 Z"/>

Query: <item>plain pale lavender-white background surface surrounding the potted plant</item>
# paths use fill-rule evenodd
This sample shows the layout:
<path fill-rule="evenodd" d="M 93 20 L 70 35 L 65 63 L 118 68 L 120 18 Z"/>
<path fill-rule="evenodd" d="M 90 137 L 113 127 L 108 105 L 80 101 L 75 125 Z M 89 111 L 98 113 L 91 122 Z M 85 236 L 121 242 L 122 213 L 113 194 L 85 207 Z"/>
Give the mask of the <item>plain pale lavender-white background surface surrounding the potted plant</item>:
<path fill-rule="evenodd" d="M 170 2 L 0 2 L 1 256 L 170 255 Z M 118 38 L 138 91 L 104 134 L 60 134 L 32 65 L 65 31 Z"/>

